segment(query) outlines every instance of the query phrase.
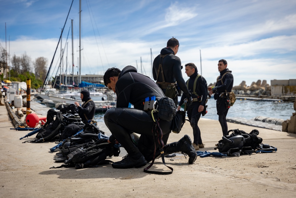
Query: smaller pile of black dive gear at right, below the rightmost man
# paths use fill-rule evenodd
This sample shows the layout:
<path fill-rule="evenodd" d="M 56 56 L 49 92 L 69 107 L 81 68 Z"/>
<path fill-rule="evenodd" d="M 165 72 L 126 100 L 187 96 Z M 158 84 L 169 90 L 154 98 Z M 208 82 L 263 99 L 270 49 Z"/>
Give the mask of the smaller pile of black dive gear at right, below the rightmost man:
<path fill-rule="evenodd" d="M 229 132 L 232 132 L 229 134 Z M 227 132 L 228 135 L 224 135 L 222 140 L 218 142 L 214 149 L 222 154 L 213 152 L 209 154 L 208 152 L 197 153 L 199 156 L 237 156 L 252 153 L 269 153 L 277 151 L 277 148 L 272 147 L 268 144 L 262 144 L 262 138 L 258 137 L 259 131 L 253 129 L 250 133 L 246 133 L 243 130 L 231 129 Z"/>

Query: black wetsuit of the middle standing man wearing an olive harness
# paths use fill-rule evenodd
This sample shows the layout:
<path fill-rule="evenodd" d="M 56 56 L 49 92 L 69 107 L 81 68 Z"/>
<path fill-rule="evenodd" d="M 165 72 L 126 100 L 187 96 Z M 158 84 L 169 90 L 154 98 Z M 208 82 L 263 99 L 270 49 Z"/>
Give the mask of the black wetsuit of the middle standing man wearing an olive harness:
<path fill-rule="evenodd" d="M 195 70 L 194 74 L 192 74 L 189 77 L 189 82 L 188 82 L 188 89 L 193 90 L 194 88 L 194 81 L 195 78 L 197 77 L 198 73 L 197 70 Z M 196 94 L 193 94 L 191 92 L 192 98 L 197 98 L 196 102 L 192 102 L 191 105 L 187 107 L 187 116 L 188 119 L 191 121 L 190 125 L 193 129 L 193 143 L 197 144 L 202 144 L 202 138 L 200 136 L 200 128 L 198 127 L 197 123 L 200 119 L 200 115 L 202 112 L 198 112 L 198 108 L 200 105 L 205 106 L 205 101 L 207 99 L 207 81 L 205 80 L 204 77 L 200 76 L 197 79 L 196 87 L 195 87 L 195 92 Z M 184 99 L 186 98 L 185 94 L 182 95 L 181 101 L 179 103 L 179 106 L 181 106 L 184 103 Z"/>

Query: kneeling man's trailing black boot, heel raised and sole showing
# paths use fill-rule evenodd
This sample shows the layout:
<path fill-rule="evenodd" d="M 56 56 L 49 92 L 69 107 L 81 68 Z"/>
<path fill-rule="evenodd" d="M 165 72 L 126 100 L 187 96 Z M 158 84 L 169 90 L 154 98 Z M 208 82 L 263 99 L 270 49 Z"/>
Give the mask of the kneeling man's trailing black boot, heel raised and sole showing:
<path fill-rule="evenodd" d="M 184 135 L 184 137 L 178 141 L 177 147 L 178 151 L 181 151 L 183 154 L 186 153 L 189 156 L 189 164 L 192 164 L 196 160 L 197 153 L 192 146 L 192 141 L 188 135 Z"/>

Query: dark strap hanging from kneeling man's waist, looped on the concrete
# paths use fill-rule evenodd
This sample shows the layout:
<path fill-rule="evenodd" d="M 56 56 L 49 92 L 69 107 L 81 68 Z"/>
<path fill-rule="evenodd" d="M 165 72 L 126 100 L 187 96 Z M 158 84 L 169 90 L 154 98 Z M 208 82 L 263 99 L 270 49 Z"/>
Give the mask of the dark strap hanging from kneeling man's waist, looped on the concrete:
<path fill-rule="evenodd" d="M 159 125 L 159 118 L 154 123 L 154 128 L 152 129 L 153 136 L 154 136 L 154 132 L 156 132 L 158 143 L 161 146 L 161 148 L 160 148 L 160 154 L 161 154 L 161 159 L 163 160 L 163 165 L 165 165 L 166 167 L 168 167 L 171 171 L 169 171 L 169 172 L 160 172 L 160 171 L 148 170 L 149 168 L 152 167 L 152 165 L 154 163 L 154 160 L 155 160 L 156 144 L 155 144 L 155 141 L 154 141 L 153 160 L 152 160 L 151 164 L 148 167 L 144 168 L 144 172 L 151 173 L 151 174 L 157 174 L 157 175 L 170 175 L 170 174 L 173 173 L 173 168 L 172 167 L 169 167 L 169 166 L 167 166 L 165 164 L 165 155 L 164 155 L 164 152 L 163 152 L 163 147 L 164 147 L 164 143 L 163 143 L 163 132 L 162 132 L 162 130 L 160 128 L 160 125 Z"/>

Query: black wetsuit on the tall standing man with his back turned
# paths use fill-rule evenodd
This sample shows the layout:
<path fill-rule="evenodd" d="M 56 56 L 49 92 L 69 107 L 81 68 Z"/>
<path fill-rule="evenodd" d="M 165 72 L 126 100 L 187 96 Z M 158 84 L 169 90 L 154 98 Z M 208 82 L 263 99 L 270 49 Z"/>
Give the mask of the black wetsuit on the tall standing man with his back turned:
<path fill-rule="evenodd" d="M 182 72 L 181 72 L 181 60 L 178 56 L 175 56 L 174 51 L 169 48 L 169 47 L 165 47 L 160 51 L 160 54 L 165 55 L 165 54 L 169 54 L 167 56 L 165 56 L 165 58 L 163 58 L 163 62 L 162 62 L 162 67 L 163 67 L 163 74 L 165 77 L 165 82 L 166 83 L 176 83 L 178 84 L 178 87 L 185 93 L 188 95 L 189 91 L 188 88 L 186 86 L 185 80 L 182 76 Z M 158 74 L 158 79 L 157 79 L 157 70 L 160 64 L 160 55 L 158 55 L 154 61 L 153 61 L 153 79 L 158 81 L 158 82 L 162 82 L 163 81 L 163 77 L 161 75 L 161 71 Z M 165 93 L 165 89 L 162 89 L 163 93 Z M 176 96 L 173 99 L 176 103 L 176 106 L 178 104 L 178 96 Z"/>

